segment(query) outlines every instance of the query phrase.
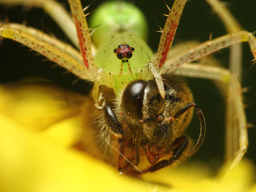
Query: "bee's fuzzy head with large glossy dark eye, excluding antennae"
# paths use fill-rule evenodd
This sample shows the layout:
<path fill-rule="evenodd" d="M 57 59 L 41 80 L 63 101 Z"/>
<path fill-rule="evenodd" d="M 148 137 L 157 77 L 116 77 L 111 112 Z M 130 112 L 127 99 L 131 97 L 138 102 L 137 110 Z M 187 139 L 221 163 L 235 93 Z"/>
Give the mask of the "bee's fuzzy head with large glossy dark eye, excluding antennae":
<path fill-rule="evenodd" d="M 139 129 L 140 120 L 147 120 L 142 124 L 140 145 L 151 164 L 182 134 L 193 114 L 193 110 L 188 110 L 172 121 L 193 97 L 184 80 L 165 78 L 165 98 L 161 97 L 155 80 L 135 80 L 125 87 L 121 96 L 121 114 L 133 134 Z"/>

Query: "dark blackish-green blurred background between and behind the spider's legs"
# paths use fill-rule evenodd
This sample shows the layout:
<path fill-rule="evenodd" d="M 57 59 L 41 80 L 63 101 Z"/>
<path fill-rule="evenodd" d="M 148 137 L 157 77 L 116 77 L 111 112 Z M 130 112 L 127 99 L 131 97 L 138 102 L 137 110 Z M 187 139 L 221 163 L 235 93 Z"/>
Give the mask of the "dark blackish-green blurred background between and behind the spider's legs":
<path fill-rule="evenodd" d="M 59 2 L 69 10 L 67 1 L 59 0 Z M 103 2 L 95 1 L 88 11 L 95 10 Z M 148 3 L 148 0 L 130 2 L 139 7 L 145 14 L 149 26 L 148 44 L 156 52 L 161 34 L 154 32 L 159 30 L 154 14 L 163 27 L 166 18 L 157 13 L 168 14 L 165 4 L 162 1 Z M 90 0 L 82 0 L 83 7 L 89 3 L 91 3 Z M 167 1 L 169 7 L 172 7 L 172 3 L 173 0 Z M 254 18 L 256 1 L 251 0 L 244 3 L 240 0 L 226 0 L 225 5 L 245 30 L 250 32 L 256 30 L 256 19 Z M 54 34 L 58 39 L 71 44 L 63 31 L 41 9 L 0 5 L 0 19 L 5 20 L 6 18 L 10 22 L 23 23 L 26 21 L 27 26 L 43 29 L 44 32 Z M 196 40 L 204 42 L 209 39 L 210 33 L 212 33 L 212 38 L 216 38 L 225 35 L 226 30 L 221 20 L 204 0 L 190 0 L 185 5 L 176 33 L 178 35 L 174 39 L 174 47 L 175 43 L 182 41 Z M 228 48 L 214 53 L 213 56 L 224 67 L 228 66 Z M 65 74 L 65 69 L 52 67 L 53 62 L 42 62 L 43 59 L 45 59 L 43 56 L 35 56 L 35 52 L 29 51 L 29 48 L 20 46 L 19 43 L 10 39 L 4 39 L 0 42 L 0 83 L 15 82 L 26 77 L 40 77 L 49 79 L 54 84 L 83 95 L 90 93 L 92 84 L 84 82 L 84 80 L 72 84 L 77 79 L 75 75 Z M 248 87 L 248 91 L 244 93 L 244 103 L 248 123 L 253 125 L 252 128 L 248 128 L 249 148 L 246 157 L 256 163 L 256 66 L 252 66 L 252 59 L 253 56 L 248 43 L 243 43 L 242 87 Z M 187 79 L 194 94 L 195 102 L 204 112 L 207 125 L 203 145 L 195 155 L 192 155 L 191 160 L 208 164 L 211 167 L 219 167 L 223 162 L 225 150 L 225 99 L 211 80 Z M 193 117 L 192 123 L 187 129 L 187 134 L 195 140 L 198 138 L 199 121 L 196 116 Z"/>

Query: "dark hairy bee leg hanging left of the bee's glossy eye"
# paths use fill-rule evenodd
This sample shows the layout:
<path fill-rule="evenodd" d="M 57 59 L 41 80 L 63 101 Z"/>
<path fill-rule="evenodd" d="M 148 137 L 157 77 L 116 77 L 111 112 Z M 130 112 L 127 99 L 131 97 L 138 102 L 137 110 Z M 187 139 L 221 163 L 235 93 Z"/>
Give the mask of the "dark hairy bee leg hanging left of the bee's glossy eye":
<path fill-rule="evenodd" d="M 118 170 L 120 173 L 123 173 L 123 169 L 121 168 L 121 162 L 123 159 L 123 150 L 124 150 L 124 130 L 123 127 L 116 117 L 116 114 L 113 112 L 112 108 L 109 105 L 105 105 L 104 108 L 105 113 L 105 120 L 107 127 L 110 128 L 111 132 L 114 134 L 114 136 L 117 138 L 118 146 L 119 146 L 119 158 L 118 158 Z M 116 148 L 115 148 L 116 149 Z"/>

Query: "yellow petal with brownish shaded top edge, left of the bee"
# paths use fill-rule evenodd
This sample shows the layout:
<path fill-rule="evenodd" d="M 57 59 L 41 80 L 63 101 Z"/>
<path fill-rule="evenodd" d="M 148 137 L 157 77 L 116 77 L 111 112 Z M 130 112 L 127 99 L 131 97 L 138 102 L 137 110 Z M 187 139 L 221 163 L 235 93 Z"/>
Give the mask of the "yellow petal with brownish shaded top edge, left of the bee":
<path fill-rule="evenodd" d="M 82 95 L 49 83 L 16 83 L 0 87 L 1 114 L 27 131 L 53 138 L 64 146 L 70 146 L 81 135 L 79 116 L 85 101 Z"/>

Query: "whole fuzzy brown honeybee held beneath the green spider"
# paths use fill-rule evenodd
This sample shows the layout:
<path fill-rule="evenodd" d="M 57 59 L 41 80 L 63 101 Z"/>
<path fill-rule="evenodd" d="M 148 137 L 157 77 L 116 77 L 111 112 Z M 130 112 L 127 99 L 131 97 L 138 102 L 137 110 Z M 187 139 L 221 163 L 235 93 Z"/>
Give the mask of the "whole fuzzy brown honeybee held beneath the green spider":
<path fill-rule="evenodd" d="M 102 110 L 94 112 L 100 113 L 92 127 L 96 130 L 100 154 L 121 173 L 154 172 L 179 159 L 192 145 L 184 135 L 193 115 L 191 108 L 196 109 L 201 131 L 196 146 L 186 155 L 195 153 L 202 144 L 205 134 L 203 113 L 193 102 L 185 80 L 172 75 L 164 78 L 165 98 L 161 97 L 154 79 L 136 79 L 128 83 L 114 101 L 108 99 Z M 114 98 L 113 91 L 106 98 Z M 83 142 L 76 147 L 82 148 L 82 145 Z M 133 166 L 137 165 L 149 167 L 134 170 Z"/>

